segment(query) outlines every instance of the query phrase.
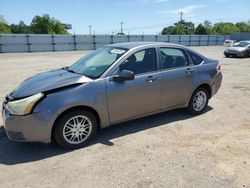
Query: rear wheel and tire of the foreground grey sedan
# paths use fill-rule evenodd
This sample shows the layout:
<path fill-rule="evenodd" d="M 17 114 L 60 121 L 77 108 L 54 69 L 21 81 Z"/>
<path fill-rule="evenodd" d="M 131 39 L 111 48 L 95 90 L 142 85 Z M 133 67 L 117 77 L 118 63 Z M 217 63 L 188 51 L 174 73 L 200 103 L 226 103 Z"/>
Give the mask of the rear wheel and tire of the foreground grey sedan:
<path fill-rule="evenodd" d="M 201 98 L 203 98 L 203 102 Z M 207 108 L 209 101 L 209 93 L 206 88 L 200 87 L 196 89 L 189 101 L 187 110 L 190 114 L 199 115 Z M 198 103 L 198 104 L 197 104 Z"/>

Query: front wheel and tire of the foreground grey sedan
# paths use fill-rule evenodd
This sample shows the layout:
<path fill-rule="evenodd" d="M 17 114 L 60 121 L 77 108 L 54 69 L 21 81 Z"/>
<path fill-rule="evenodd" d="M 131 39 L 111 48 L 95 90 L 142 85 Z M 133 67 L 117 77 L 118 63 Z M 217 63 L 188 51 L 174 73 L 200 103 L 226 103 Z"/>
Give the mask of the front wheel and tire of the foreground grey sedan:
<path fill-rule="evenodd" d="M 97 132 L 96 117 L 87 110 L 73 110 L 64 114 L 55 124 L 54 138 L 66 149 L 87 146 Z"/>

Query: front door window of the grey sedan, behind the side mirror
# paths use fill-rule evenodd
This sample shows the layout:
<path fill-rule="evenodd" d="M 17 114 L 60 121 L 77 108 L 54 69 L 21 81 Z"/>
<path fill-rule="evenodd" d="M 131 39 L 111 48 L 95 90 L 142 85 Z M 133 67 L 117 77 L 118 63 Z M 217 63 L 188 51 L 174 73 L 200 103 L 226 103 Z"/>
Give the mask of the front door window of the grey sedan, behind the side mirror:
<path fill-rule="evenodd" d="M 156 71 L 156 52 L 155 48 L 149 48 L 134 53 L 124 61 L 119 67 L 120 72 L 129 70 L 134 74 L 143 74 Z"/>

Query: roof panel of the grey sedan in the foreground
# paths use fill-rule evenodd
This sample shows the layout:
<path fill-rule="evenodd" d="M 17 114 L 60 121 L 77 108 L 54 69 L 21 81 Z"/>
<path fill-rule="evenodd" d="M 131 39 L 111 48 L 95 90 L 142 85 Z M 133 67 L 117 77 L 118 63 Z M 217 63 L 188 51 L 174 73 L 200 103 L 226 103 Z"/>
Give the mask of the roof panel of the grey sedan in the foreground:
<path fill-rule="evenodd" d="M 180 47 L 181 45 L 173 44 L 173 43 L 166 43 L 166 42 L 124 42 L 124 43 L 110 44 L 108 46 L 116 47 L 116 48 L 132 49 L 132 48 L 141 47 L 141 46 L 172 46 L 172 47 Z"/>

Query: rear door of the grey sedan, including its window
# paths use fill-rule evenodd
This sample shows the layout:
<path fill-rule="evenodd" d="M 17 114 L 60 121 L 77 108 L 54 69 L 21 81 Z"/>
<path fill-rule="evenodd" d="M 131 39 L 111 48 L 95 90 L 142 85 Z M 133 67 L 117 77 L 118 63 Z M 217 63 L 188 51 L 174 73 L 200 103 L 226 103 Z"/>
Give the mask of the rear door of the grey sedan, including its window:
<path fill-rule="evenodd" d="M 199 80 L 198 68 L 189 63 L 181 48 L 159 48 L 162 69 L 162 109 L 188 103 L 195 81 Z"/>

